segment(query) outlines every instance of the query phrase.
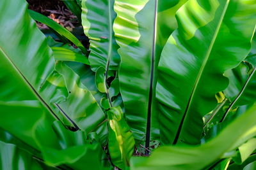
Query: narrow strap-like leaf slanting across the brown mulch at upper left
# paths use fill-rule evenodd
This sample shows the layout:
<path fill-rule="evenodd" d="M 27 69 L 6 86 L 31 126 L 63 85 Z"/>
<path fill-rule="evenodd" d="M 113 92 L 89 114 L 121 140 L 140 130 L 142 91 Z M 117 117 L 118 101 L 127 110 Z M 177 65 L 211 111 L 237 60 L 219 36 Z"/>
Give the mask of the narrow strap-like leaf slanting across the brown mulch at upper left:
<path fill-rule="evenodd" d="M 44 15 L 36 12 L 29 10 L 29 15 L 36 21 L 41 22 L 48 27 L 51 27 L 54 31 L 58 32 L 61 36 L 64 36 L 67 38 L 69 41 L 74 43 L 78 48 L 80 48 L 85 55 L 88 55 L 88 51 L 84 48 L 83 44 L 79 41 L 79 39 L 76 38 L 71 32 L 69 32 L 67 29 L 65 29 L 63 26 L 60 24 L 54 22 L 54 20 L 51 20 L 48 17 L 45 17 Z"/>

